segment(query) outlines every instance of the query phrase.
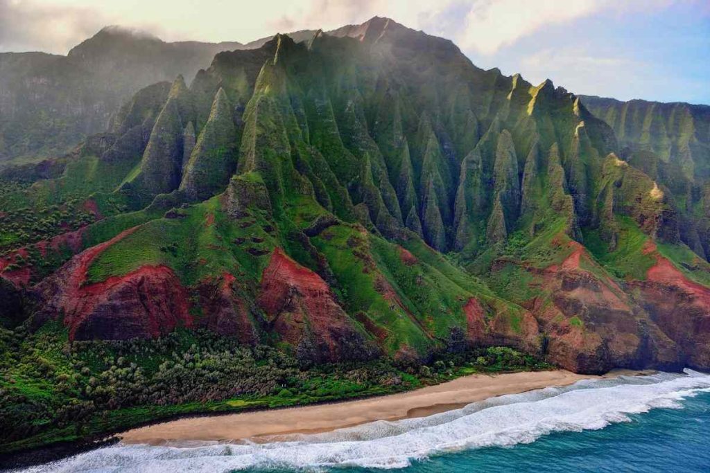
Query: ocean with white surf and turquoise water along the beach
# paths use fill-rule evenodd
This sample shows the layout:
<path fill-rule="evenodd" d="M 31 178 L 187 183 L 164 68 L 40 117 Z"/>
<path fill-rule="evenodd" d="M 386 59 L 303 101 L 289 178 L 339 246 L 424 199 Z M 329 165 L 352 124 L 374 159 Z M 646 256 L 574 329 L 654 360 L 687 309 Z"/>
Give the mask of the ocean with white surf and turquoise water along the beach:
<path fill-rule="evenodd" d="M 31 472 L 710 472 L 710 376 L 685 370 L 499 396 L 266 444 L 116 445 Z"/>

